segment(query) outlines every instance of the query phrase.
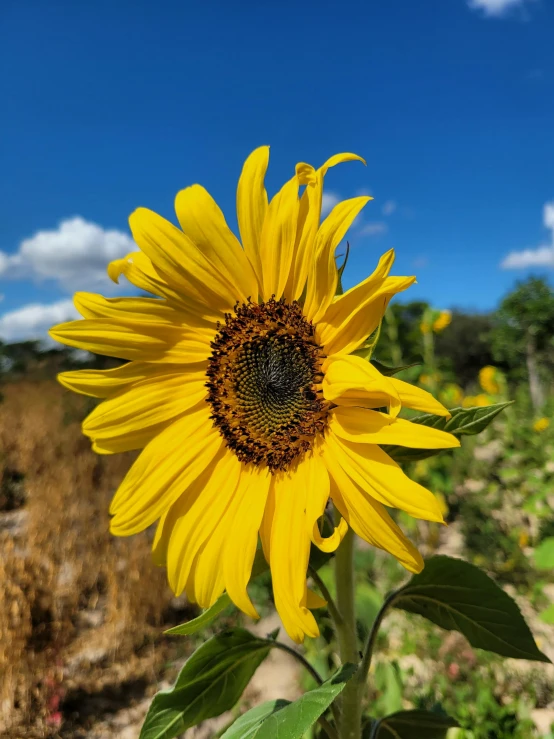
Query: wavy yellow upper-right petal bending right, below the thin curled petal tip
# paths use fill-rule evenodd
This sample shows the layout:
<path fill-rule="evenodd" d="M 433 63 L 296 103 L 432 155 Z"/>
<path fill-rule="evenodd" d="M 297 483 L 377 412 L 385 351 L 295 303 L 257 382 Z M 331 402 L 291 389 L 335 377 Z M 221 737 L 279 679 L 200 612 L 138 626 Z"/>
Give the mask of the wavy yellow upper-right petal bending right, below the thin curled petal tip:
<path fill-rule="evenodd" d="M 369 197 L 343 200 L 333 208 L 319 227 L 315 239 L 312 268 L 308 270 L 304 304 L 304 312 L 311 321 L 319 321 L 335 297 L 338 282 L 335 250 L 353 220 L 370 200 Z"/>

